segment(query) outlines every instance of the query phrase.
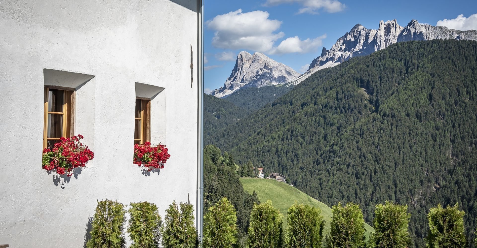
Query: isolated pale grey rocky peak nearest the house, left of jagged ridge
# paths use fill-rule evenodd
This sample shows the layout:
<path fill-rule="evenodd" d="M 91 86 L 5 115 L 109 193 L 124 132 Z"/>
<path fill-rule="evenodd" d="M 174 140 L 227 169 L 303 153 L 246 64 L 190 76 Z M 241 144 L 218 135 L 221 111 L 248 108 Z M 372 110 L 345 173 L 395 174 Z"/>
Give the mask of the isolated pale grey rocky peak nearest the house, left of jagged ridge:
<path fill-rule="evenodd" d="M 270 59 L 267 55 L 255 52 L 253 55 L 241 51 L 237 55 L 235 67 L 224 86 L 214 89 L 210 95 L 225 97 L 238 89 L 263 87 L 288 83 L 300 76 L 290 67 Z"/>

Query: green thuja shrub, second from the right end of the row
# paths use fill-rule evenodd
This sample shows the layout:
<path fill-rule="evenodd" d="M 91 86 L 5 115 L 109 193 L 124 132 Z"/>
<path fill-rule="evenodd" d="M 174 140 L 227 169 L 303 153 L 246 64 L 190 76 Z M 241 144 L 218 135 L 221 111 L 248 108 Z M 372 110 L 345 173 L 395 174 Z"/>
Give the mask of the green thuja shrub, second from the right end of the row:
<path fill-rule="evenodd" d="M 407 205 L 386 201 L 374 210 L 374 233 L 371 235 L 371 248 L 406 248 L 411 239 L 408 223 L 411 214 L 407 213 Z"/>

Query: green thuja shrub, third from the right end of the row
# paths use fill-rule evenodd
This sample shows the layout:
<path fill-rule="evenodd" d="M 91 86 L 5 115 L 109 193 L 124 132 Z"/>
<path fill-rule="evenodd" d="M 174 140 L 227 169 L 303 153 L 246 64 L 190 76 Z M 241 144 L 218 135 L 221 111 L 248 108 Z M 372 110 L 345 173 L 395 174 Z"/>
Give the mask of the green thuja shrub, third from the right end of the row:
<path fill-rule="evenodd" d="M 330 248 L 361 248 L 364 246 L 364 219 L 359 205 L 341 202 L 332 207 Z"/>

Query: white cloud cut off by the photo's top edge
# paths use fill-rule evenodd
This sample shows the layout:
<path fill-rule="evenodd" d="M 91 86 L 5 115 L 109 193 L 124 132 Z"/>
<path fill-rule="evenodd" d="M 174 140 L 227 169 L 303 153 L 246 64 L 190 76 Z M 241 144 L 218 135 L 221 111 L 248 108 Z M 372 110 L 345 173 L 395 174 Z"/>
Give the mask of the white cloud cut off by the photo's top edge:
<path fill-rule="evenodd" d="M 298 10 L 298 14 L 317 14 L 317 10 L 320 9 L 323 9 L 329 13 L 335 13 L 342 11 L 346 7 L 338 0 L 267 0 L 265 5 L 273 6 L 284 3 L 299 3 L 302 8 Z"/>

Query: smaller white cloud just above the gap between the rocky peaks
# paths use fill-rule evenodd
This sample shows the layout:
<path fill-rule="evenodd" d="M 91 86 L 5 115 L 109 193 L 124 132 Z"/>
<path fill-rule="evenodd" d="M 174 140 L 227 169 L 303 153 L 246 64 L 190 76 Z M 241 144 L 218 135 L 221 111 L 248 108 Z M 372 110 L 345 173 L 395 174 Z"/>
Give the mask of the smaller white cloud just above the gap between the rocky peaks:
<path fill-rule="evenodd" d="M 287 38 L 282 40 L 278 47 L 270 51 L 270 54 L 284 54 L 284 53 L 307 53 L 313 52 L 318 47 L 321 47 L 321 40 L 326 38 L 326 34 L 321 35 L 313 40 L 310 38 L 306 40 L 300 40 L 298 36 Z"/>

